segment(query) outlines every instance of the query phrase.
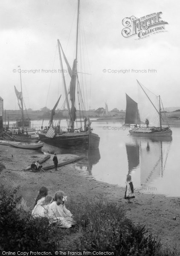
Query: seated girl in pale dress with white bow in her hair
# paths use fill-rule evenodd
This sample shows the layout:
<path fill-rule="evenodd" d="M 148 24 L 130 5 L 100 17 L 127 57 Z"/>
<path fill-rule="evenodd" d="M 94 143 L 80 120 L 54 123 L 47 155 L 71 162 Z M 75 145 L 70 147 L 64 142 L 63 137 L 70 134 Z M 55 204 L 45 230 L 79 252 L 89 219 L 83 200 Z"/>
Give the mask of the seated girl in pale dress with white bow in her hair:
<path fill-rule="evenodd" d="M 70 228 L 75 225 L 72 213 L 66 209 L 64 202 L 67 201 L 63 191 L 57 191 L 52 203 L 48 207 L 48 218 L 60 227 Z"/>

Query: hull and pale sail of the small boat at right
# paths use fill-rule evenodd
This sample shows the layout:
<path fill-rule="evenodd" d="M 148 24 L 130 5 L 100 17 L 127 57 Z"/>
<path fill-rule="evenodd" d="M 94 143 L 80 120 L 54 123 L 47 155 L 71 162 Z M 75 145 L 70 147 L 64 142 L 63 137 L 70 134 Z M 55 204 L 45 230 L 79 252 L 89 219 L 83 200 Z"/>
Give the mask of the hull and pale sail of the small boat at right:
<path fill-rule="evenodd" d="M 140 121 L 148 121 L 147 126 L 143 126 L 139 122 L 139 127 L 133 128 L 129 133 L 133 136 L 139 137 L 167 137 L 172 136 L 172 131 L 168 127 L 162 127 L 162 120 L 164 121 L 161 114 L 162 101 L 160 96 L 155 95 L 142 84 L 139 85 L 139 119 Z M 138 111 L 137 111 L 138 114 Z"/>

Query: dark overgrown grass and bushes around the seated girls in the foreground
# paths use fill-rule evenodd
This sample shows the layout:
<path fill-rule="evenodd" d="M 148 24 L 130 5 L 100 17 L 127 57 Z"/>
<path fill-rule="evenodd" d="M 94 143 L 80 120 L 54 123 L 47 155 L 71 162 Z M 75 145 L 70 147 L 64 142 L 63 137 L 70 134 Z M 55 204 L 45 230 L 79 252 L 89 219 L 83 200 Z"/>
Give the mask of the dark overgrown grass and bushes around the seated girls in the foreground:
<path fill-rule="evenodd" d="M 106 201 L 70 201 L 67 208 L 75 216 L 76 227 L 69 230 L 50 224 L 46 218 L 31 218 L 26 201 L 0 188 L 0 249 L 28 250 L 105 250 L 119 256 L 172 256 L 163 251 L 160 240 L 144 226 L 134 225 L 125 210 Z"/>

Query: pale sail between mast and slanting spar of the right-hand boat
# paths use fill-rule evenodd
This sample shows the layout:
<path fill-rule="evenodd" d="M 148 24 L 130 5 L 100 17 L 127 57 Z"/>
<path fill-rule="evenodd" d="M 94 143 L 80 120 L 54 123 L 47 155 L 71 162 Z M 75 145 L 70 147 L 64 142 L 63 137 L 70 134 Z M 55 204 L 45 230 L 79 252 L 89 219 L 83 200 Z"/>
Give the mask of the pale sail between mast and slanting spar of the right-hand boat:
<path fill-rule="evenodd" d="M 139 116 L 142 122 L 146 119 L 149 121 L 149 126 L 160 127 L 159 116 L 159 101 L 158 96 L 151 93 L 138 81 L 138 108 Z"/>

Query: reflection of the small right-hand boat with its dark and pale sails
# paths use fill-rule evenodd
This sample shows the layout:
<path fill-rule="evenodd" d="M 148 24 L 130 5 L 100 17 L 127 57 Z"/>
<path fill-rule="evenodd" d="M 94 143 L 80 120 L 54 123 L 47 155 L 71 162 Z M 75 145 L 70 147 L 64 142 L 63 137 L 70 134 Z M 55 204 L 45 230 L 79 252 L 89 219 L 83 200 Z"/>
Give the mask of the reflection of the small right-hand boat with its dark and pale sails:
<path fill-rule="evenodd" d="M 141 186 L 152 185 L 157 177 L 163 177 L 171 140 L 172 137 L 132 137 L 132 143 L 126 143 L 128 173 L 139 175 L 136 179 Z"/>

